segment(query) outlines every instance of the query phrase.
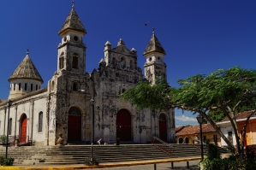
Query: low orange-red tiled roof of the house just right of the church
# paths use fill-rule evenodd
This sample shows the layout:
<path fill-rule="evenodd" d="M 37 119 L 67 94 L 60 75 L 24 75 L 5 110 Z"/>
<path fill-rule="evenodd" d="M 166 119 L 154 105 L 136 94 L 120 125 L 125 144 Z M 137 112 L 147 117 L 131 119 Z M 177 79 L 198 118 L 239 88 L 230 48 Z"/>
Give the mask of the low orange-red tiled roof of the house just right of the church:
<path fill-rule="evenodd" d="M 185 126 L 180 132 L 176 133 L 176 136 L 197 134 L 200 132 L 200 126 Z M 216 132 L 211 124 L 203 124 L 202 132 Z"/>

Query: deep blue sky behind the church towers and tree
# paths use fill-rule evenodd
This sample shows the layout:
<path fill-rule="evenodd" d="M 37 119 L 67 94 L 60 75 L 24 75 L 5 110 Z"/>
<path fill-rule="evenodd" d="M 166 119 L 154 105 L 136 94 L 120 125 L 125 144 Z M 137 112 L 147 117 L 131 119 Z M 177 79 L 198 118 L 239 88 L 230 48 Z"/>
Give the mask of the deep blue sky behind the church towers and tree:
<path fill-rule="evenodd" d="M 26 56 L 44 79 L 57 70 L 57 32 L 71 10 L 71 0 L 0 1 L 0 98 L 9 95 L 9 76 Z M 167 55 L 170 85 L 177 79 L 217 68 L 255 69 L 256 1 L 199 0 L 75 0 L 74 8 L 86 27 L 86 72 L 98 68 L 104 44 L 115 47 L 122 38 L 138 52 L 138 65 L 152 36 L 152 27 Z M 144 23 L 149 21 L 149 25 Z M 196 125 L 191 113 L 176 110 L 176 126 Z"/>

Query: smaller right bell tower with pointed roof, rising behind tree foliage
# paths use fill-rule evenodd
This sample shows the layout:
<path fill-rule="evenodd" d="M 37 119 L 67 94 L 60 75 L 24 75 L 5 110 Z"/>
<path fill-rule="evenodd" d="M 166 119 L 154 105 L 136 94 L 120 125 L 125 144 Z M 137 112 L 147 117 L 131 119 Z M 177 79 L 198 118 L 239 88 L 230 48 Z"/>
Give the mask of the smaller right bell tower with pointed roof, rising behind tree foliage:
<path fill-rule="evenodd" d="M 153 28 L 152 38 L 143 53 L 143 56 L 146 56 L 146 63 L 144 64 L 145 77 L 152 85 L 156 84 L 157 76 L 159 78 L 167 78 L 166 64 L 164 63 L 165 55 L 164 48 L 158 41 Z"/>

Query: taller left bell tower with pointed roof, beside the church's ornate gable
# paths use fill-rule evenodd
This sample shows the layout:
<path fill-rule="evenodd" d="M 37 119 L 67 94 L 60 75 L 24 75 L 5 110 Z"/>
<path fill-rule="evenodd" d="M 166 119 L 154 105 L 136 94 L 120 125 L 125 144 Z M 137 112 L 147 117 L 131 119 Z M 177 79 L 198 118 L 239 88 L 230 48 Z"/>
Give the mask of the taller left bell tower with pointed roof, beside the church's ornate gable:
<path fill-rule="evenodd" d="M 62 43 L 57 47 L 58 73 L 63 70 L 86 73 L 86 44 L 83 44 L 83 36 L 86 33 L 85 27 L 74 10 L 73 3 L 66 21 L 58 32 L 58 35 L 62 36 Z"/>

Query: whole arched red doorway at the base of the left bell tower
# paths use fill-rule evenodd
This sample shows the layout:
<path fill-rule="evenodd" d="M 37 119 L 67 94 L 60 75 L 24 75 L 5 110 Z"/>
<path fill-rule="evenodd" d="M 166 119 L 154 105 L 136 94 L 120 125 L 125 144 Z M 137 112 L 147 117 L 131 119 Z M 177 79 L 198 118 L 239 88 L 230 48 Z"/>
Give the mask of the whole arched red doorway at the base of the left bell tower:
<path fill-rule="evenodd" d="M 68 142 L 78 142 L 81 140 L 81 112 L 79 108 L 69 108 L 68 110 Z"/>

